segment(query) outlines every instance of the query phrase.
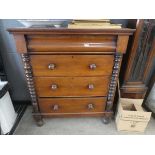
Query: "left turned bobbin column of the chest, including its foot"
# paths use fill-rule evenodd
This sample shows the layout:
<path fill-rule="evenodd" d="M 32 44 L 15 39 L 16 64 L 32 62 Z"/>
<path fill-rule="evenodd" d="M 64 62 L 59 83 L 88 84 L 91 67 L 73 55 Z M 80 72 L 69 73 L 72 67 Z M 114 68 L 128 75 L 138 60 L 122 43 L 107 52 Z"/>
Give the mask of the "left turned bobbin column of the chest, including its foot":
<path fill-rule="evenodd" d="M 32 68 L 30 65 L 30 58 L 27 53 L 21 54 L 21 58 L 23 61 L 27 86 L 28 86 L 28 90 L 30 93 L 31 102 L 32 102 L 32 106 L 33 106 L 33 117 L 34 117 L 37 125 L 42 126 L 43 120 L 42 120 L 42 117 L 41 117 L 41 114 L 39 111 L 39 107 L 38 107 L 37 95 L 36 95 L 34 81 L 33 81 L 33 75 L 32 75 Z"/>

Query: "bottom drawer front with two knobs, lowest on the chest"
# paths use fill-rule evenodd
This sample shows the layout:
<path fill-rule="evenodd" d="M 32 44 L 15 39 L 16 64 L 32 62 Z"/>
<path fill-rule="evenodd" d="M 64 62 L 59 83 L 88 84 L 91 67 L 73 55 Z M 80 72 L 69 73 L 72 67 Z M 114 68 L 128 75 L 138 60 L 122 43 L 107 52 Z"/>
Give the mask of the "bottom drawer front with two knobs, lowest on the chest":
<path fill-rule="evenodd" d="M 48 98 L 39 99 L 41 113 L 94 113 L 104 112 L 106 98 Z"/>

